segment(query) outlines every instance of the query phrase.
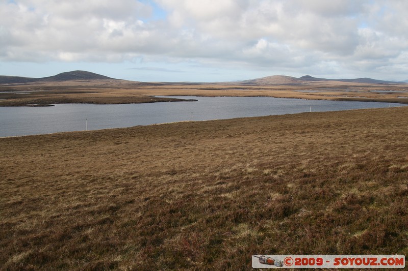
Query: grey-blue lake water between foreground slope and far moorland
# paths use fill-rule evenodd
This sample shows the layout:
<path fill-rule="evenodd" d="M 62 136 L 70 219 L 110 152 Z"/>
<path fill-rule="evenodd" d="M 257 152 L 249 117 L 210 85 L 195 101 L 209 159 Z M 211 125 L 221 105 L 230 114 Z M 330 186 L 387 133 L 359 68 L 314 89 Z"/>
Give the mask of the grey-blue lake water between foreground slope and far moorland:
<path fill-rule="evenodd" d="M 98 130 L 158 123 L 402 106 L 397 103 L 337 102 L 271 97 L 177 97 L 197 102 L 148 104 L 56 104 L 0 107 L 0 137 Z"/>

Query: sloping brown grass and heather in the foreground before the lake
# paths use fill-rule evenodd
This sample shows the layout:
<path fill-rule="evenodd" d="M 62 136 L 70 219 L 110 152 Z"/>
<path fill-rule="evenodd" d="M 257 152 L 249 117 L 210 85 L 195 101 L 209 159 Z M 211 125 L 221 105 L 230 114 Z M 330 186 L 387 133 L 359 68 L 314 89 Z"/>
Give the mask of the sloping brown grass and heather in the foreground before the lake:
<path fill-rule="evenodd" d="M 0 139 L 2 269 L 408 251 L 408 108 Z"/>

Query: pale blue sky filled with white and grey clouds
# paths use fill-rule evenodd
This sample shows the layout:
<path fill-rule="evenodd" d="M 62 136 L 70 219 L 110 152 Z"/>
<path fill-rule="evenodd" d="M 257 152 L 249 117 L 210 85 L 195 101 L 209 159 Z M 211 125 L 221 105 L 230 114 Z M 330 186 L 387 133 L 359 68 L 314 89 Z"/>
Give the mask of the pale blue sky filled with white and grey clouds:
<path fill-rule="evenodd" d="M 408 79 L 406 0 L 0 0 L 0 75 Z"/>

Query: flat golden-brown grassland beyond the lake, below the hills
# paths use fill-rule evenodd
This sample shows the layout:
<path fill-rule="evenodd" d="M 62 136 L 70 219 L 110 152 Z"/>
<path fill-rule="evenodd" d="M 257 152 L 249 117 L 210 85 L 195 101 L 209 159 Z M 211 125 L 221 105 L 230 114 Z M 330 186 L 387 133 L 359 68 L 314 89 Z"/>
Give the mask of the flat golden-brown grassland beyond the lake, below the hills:
<path fill-rule="evenodd" d="M 314 92 L 318 89 L 318 92 Z M 311 92 L 299 92 L 311 91 Z M 398 91 L 387 93 L 387 91 Z M 16 91 L 27 92 L 17 94 Z M 34 91 L 34 92 L 31 92 Z M 372 91 L 385 91 L 377 93 Z M 7 92 L 7 93 L 2 93 Z M 0 86 L 0 106 L 28 104 L 94 103 L 122 104 L 170 101 L 152 96 L 266 96 L 309 100 L 378 101 L 408 104 L 404 84 L 309 82 L 297 85 L 235 85 L 137 83 L 132 81 L 65 81 Z"/>

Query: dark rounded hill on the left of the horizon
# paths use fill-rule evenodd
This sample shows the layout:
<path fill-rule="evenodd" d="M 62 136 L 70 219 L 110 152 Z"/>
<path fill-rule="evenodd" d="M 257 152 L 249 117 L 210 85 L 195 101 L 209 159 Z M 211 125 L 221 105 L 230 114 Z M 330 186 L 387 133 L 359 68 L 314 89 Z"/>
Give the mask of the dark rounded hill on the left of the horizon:
<path fill-rule="evenodd" d="M 54 76 L 42 78 L 30 78 L 19 76 L 0 76 L 0 84 L 25 84 L 33 82 L 63 82 L 73 80 L 117 80 L 108 76 L 87 72 L 87 71 L 72 71 L 64 72 Z"/>

